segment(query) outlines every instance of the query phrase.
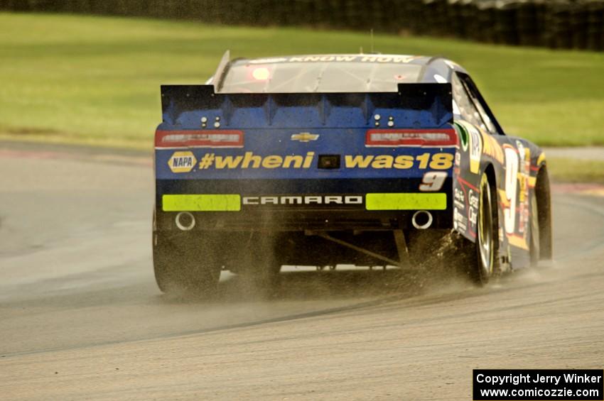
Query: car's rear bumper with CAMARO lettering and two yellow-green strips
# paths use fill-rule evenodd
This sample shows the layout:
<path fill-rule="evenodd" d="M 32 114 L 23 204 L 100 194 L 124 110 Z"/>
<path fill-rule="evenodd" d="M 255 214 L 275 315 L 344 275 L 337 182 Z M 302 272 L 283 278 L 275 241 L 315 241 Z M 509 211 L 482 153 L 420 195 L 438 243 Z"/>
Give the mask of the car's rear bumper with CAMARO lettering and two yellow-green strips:
<path fill-rule="evenodd" d="M 412 216 L 427 210 L 433 218 L 430 229 L 453 228 L 451 196 L 417 192 L 419 181 L 158 180 L 156 224 L 161 231 L 179 231 L 176 216 L 190 212 L 195 218 L 194 231 L 392 231 L 414 229 Z M 443 186 L 450 187 L 450 182 Z M 210 194 L 212 202 L 202 202 L 201 207 L 195 202 L 190 207 L 188 201 L 173 202 L 180 195 L 195 201 L 200 194 Z M 216 194 L 227 200 L 221 204 Z M 328 197 L 334 202 L 325 204 Z M 385 204 L 384 199 L 388 200 Z M 399 204 L 393 205 L 392 199 Z"/>

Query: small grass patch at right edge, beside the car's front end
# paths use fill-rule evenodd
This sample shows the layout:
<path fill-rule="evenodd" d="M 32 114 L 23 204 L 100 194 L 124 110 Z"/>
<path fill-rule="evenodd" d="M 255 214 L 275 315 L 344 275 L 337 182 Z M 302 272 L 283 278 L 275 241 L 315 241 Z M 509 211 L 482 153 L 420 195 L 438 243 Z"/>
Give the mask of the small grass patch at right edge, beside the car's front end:
<path fill-rule="evenodd" d="M 555 182 L 596 182 L 604 184 L 604 161 L 548 158 L 547 168 Z"/>

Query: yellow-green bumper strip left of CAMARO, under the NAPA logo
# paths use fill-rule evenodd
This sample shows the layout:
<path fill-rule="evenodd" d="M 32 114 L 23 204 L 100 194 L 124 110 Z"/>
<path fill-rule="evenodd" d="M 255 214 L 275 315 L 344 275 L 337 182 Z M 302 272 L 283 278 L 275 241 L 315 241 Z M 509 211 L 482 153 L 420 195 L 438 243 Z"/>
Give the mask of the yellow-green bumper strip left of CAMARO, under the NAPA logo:
<path fill-rule="evenodd" d="M 241 195 L 163 195 L 161 204 L 163 212 L 239 212 Z"/>

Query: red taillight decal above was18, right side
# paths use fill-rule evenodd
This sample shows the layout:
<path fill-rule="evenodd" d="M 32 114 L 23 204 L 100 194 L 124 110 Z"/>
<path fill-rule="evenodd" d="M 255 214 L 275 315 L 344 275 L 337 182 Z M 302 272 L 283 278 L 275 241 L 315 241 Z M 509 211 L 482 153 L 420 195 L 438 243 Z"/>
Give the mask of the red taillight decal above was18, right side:
<path fill-rule="evenodd" d="M 365 146 L 370 148 L 443 148 L 456 144 L 457 134 L 454 129 L 370 129 L 365 136 Z"/>

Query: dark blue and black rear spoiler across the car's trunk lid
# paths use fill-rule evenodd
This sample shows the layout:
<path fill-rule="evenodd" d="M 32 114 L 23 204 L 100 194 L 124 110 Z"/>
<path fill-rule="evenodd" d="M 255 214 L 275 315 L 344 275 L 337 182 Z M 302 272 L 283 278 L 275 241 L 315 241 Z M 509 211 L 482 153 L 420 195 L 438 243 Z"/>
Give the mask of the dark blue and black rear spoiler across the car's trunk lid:
<path fill-rule="evenodd" d="M 212 84 L 163 85 L 163 130 L 202 128 L 448 128 L 451 84 L 399 84 L 397 92 L 215 93 Z"/>

